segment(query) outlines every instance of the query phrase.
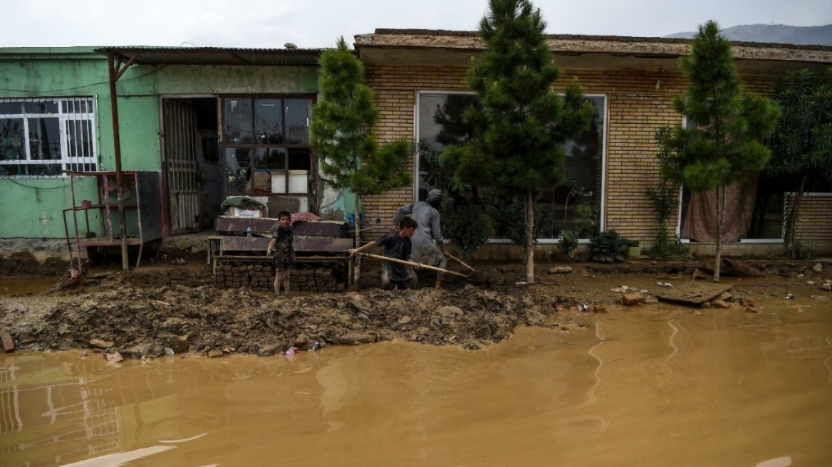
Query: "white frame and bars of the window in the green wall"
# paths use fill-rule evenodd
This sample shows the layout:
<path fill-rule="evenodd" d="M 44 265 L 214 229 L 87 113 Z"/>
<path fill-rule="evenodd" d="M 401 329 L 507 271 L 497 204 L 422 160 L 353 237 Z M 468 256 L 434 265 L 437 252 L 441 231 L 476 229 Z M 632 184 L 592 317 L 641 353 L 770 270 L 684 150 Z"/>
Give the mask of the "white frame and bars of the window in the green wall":
<path fill-rule="evenodd" d="M 92 102 L 92 112 L 65 112 L 64 104 L 69 102 L 80 103 L 83 101 Z M 26 150 L 26 160 L 0 160 L 0 165 L 61 165 L 61 175 L 4 175 L 14 179 L 57 179 L 67 177 L 66 172 L 78 170 L 83 165 L 92 165 L 93 171 L 101 170 L 98 162 L 98 127 L 97 127 L 97 99 L 96 96 L 74 96 L 74 97 L 2 97 L 0 102 L 55 102 L 57 114 L 55 113 L 20 113 L 0 114 L 0 119 L 22 119 L 23 120 L 23 145 Z M 32 160 L 32 148 L 29 143 L 29 119 L 32 118 L 56 118 L 58 120 L 58 133 L 61 145 L 61 159 Z M 91 155 L 71 155 L 69 144 L 69 122 L 87 121 L 87 129 L 84 135 L 92 142 Z M 74 152 L 74 148 L 72 148 Z M 79 170 L 80 171 L 80 170 Z"/>

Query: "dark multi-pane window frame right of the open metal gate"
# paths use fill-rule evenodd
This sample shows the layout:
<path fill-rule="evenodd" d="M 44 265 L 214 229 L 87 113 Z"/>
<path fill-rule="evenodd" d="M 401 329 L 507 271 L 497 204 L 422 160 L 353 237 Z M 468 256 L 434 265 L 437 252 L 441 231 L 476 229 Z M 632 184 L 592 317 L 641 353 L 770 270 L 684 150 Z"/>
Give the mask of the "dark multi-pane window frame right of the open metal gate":
<path fill-rule="evenodd" d="M 318 199 L 318 160 L 314 155 L 314 149 L 312 147 L 311 141 L 311 133 L 310 133 L 310 143 L 308 145 L 295 145 L 295 144 L 288 144 L 286 143 L 286 110 L 285 104 L 281 106 L 280 109 L 280 125 L 282 127 L 282 135 L 283 141 L 282 143 L 229 143 L 225 140 L 225 101 L 229 99 L 250 99 L 252 106 L 251 106 L 251 124 L 252 124 L 252 134 L 254 135 L 256 130 L 256 112 L 257 108 L 255 106 L 255 102 L 258 99 L 280 99 L 281 102 L 285 102 L 289 99 L 303 99 L 303 100 L 310 100 L 310 115 L 314 108 L 314 105 L 317 103 L 317 94 L 314 93 L 278 93 L 278 94 L 220 94 L 219 99 L 219 106 L 220 106 L 220 117 L 219 117 L 219 139 L 220 139 L 220 157 L 222 158 L 222 166 L 221 171 L 223 174 L 223 190 L 225 191 L 225 196 L 264 196 L 264 197 L 287 197 L 287 198 L 299 198 L 299 197 L 306 197 L 308 199 L 308 209 L 310 211 L 314 211 L 317 209 L 317 199 Z M 314 118 L 311 116 L 310 119 Z M 311 128 L 311 121 L 309 123 L 308 128 Z M 311 130 L 310 130 L 311 131 Z M 243 193 L 240 192 L 232 192 L 229 190 L 228 187 L 228 175 L 227 175 L 227 161 L 226 158 L 226 151 L 229 149 L 247 149 L 249 150 L 249 166 L 251 170 L 251 177 L 247 182 L 247 190 Z M 255 192 L 255 152 L 258 149 L 269 150 L 269 149 L 283 149 L 285 150 L 285 186 L 286 189 L 289 189 L 290 183 L 290 169 L 289 169 L 289 160 L 290 155 L 289 151 L 292 149 L 304 149 L 310 151 L 310 176 L 311 176 L 311 191 L 307 193 L 258 193 Z M 275 170 L 276 171 L 276 170 Z"/>

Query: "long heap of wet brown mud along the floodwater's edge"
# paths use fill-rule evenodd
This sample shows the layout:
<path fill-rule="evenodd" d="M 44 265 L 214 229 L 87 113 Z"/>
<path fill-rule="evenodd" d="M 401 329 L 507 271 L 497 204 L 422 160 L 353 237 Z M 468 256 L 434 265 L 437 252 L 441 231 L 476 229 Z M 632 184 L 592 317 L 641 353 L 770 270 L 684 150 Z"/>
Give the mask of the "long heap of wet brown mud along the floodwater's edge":
<path fill-rule="evenodd" d="M 171 286 L 115 288 L 79 295 L 38 312 L 6 307 L 18 344 L 33 350 L 87 348 L 92 339 L 114 342 L 132 358 L 224 351 L 267 356 L 295 342 L 355 345 L 400 339 L 480 348 L 508 338 L 520 325 L 587 327 L 562 298 L 522 290 L 483 290 L 274 297 L 246 289 Z M 25 316 L 24 316 L 25 315 Z M 13 324 L 12 324 L 13 323 Z M 217 352 L 214 352 L 216 354 Z"/>

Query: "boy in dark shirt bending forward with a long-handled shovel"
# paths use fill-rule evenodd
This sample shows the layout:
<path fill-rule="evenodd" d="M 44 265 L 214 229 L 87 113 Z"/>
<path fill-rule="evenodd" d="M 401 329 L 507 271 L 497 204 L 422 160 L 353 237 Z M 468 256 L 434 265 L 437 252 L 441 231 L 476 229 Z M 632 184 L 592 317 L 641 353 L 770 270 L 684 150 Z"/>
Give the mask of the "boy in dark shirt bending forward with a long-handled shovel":
<path fill-rule="evenodd" d="M 410 238 L 416 233 L 418 225 L 414 219 L 404 218 L 399 224 L 399 230 L 390 232 L 374 242 L 367 243 L 361 248 L 349 250 L 350 254 L 358 254 L 367 248 L 375 245 L 384 247 L 384 256 L 388 258 L 404 259 L 410 261 L 410 253 L 413 247 Z M 384 290 L 405 290 L 416 287 L 416 273 L 414 268 L 407 264 L 383 261 L 381 264 L 381 288 Z"/>

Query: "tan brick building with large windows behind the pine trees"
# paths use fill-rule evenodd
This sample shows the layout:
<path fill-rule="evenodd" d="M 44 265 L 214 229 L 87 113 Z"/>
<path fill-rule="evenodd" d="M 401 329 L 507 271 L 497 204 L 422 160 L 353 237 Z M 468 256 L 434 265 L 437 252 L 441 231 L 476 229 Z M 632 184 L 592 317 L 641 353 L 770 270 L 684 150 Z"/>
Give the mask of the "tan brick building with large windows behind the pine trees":
<path fill-rule="evenodd" d="M 557 243 L 564 223 L 587 226 L 581 234 L 585 239 L 615 229 L 649 243 L 657 227 L 646 195 L 659 179 L 654 135 L 661 125 L 684 124 L 672 100 L 686 86 L 678 58 L 689 53 L 690 41 L 567 35 L 549 36 L 547 41 L 564 71 L 557 86 L 577 78 L 597 116 L 590 130 L 567 144 L 570 187 L 552 187 L 540 194 L 551 211 L 542 245 Z M 476 102 L 465 74 L 471 57 L 483 50 L 476 32 L 377 29 L 355 37 L 355 48 L 379 106 L 380 140 L 413 138 L 441 150 L 465 138 L 461 110 Z M 734 54 L 745 88 L 764 96 L 773 96 L 786 71 L 823 71 L 832 64 L 832 47 L 735 42 Z M 365 199 L 364 218 L 389 224 L 395 209 L 431 188 L 426 165 L 429 160 L 414 157 L 409 165 L 414 186 Z M 782 180 L 766 175 L 755 184 L 755 194 L 750 192 L 755 202 L 748 203 L 753 205 L 748 233 L 728 246 L 729 254 L 760 253 L 782 245 L 784 206 L 790 194 L 784 193 Z M 462 202 L 488 203 L 483 190 L 463 198 Z M 684 192 L 681 198 L 674 223 L 686 238 L 691 196 Z M 817 187 L 805 198 L 797 235 L 815 248 L 832 248 L 832 187 Z M 691 247 L 706 253 L 713 243 L 692 241 Z M 492 245 L 482 256 L 503 257 L 506 252 L 498 253 L 501 249 L 507 248 Z"/>

